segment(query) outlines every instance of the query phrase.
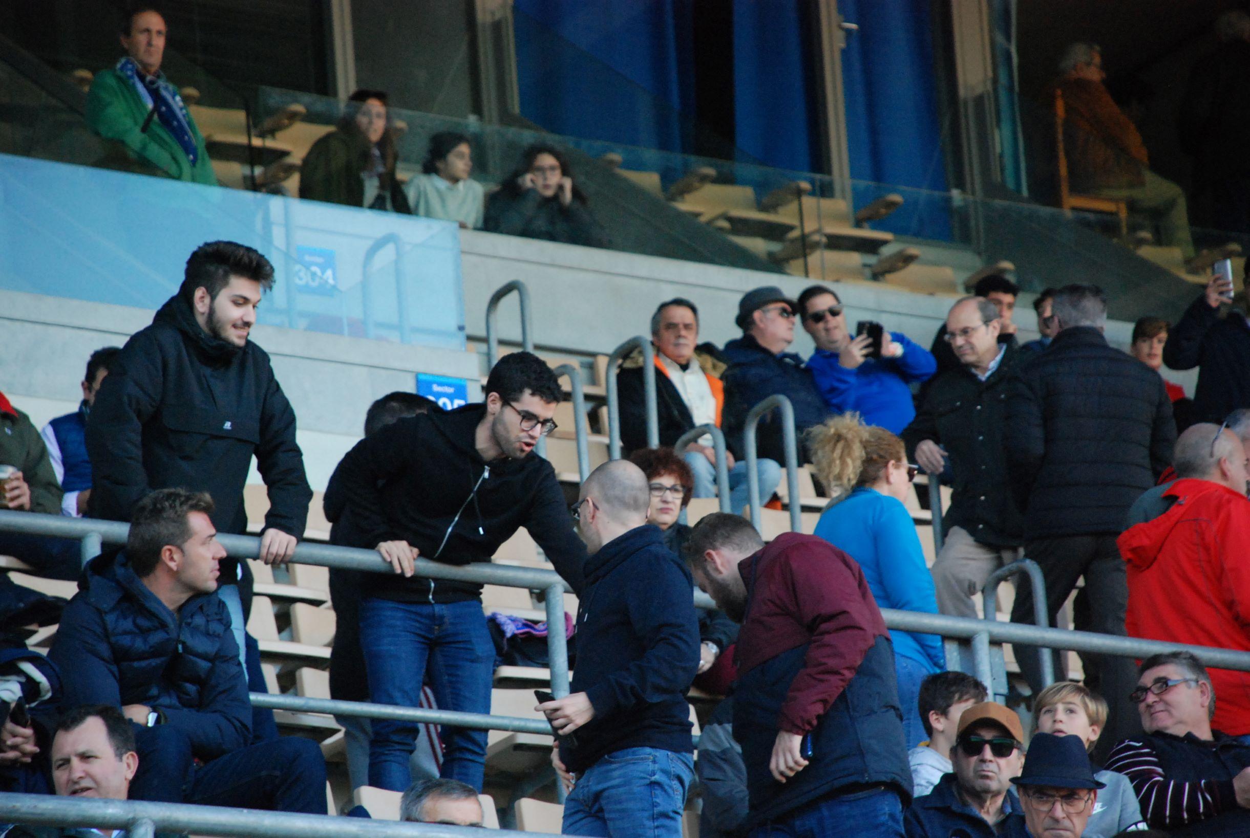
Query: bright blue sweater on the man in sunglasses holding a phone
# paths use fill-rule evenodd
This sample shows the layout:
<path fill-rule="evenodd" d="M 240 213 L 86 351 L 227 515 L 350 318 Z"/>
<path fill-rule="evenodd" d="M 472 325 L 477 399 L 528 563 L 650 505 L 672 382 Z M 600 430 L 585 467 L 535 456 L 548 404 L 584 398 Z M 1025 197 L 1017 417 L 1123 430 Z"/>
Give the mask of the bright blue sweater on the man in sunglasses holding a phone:
<path fill-rule="evenodd" d="M 848 370 L 838 362 L 838 352 L 816 350 L 808 368 L 834 411 L 859 411 L 866 425 L 901 433 L 916 416 L 908 385 L 929 378 L 938 370 L 938 361 L 901 332 L 890 332 L 890 340 L 902 347 L 896 358 L 868 358 Z"/>

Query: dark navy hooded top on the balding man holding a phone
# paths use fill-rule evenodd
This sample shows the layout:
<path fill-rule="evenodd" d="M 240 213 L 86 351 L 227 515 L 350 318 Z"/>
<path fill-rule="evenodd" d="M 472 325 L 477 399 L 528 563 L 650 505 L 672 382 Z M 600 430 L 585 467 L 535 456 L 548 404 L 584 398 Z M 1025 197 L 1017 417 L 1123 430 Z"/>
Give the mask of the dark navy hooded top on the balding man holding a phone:
<path fill-rule="evenodd" d="M 699 668 L 699 624 L 690 571 L 644 525 L 586 562 L 578 606 L 578 668 L 595 718 L 560 744 L 569 771 L 585 771 L 625 748 L 692 753 L 685 694 Z"/>

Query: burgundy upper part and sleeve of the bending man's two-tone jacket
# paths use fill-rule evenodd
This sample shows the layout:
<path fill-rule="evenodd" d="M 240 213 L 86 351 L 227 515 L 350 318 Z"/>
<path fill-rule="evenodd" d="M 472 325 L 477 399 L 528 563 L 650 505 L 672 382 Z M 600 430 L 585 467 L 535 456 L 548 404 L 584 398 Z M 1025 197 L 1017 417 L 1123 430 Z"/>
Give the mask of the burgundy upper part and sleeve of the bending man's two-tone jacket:
<path fill-rule="evenodd" d="M 742 676 L 809 643 L 790 684 L 779 727 L 808 733 L 841 694 L 881 634 L 881 611 L 850 556 L 824 538 L 788 532 L 739 563 L 748 604 L 738 634 Z"/>

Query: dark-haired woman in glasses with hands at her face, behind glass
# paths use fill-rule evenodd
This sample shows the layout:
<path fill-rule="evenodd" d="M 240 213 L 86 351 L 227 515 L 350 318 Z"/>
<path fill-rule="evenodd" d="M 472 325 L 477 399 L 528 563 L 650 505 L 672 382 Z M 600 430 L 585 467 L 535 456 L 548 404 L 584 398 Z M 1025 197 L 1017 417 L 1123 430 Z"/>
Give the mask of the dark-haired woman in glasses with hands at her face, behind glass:
<path fill-rule="evenodd" d="M 572 182 L 572 170 L 555 146 L 531 145 L 499 191 L 486 202 L 491 232 L 606 247 L 608 235 Z"/>

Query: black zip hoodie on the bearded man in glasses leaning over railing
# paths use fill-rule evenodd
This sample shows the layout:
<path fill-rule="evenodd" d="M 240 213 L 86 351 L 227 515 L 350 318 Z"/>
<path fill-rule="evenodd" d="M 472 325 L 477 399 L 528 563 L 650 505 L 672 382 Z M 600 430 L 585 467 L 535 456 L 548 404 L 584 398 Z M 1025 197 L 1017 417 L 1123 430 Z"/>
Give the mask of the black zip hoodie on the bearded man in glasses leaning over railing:
<path fill-rule="evenodd" d="M 551 463 L 535 453 L 486 462 L 476 428 L 486 406 L 465 405 L 392 422 L 356 443 L 338 477 L 359 547 L 406 541 L 421 558 L 489 562 L 525 527 L 574 591 L 586 547 Z M 481 594 L 472 582 L 366 573 L 362 593 L 402 602 L 459 602 Z"/>

